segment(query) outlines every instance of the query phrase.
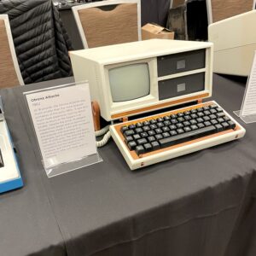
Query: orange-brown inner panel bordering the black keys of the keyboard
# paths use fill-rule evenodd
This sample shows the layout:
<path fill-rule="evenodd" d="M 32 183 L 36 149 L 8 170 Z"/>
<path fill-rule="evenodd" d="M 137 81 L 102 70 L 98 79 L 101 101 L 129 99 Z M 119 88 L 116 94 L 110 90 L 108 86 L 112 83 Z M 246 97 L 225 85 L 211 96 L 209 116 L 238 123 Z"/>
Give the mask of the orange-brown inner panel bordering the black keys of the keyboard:
<path fill-rule="evenodd" d="M 202 108 L 202 107 L 205 107 L 205 106 L 209 106 L 212 103 L 213 102 L 207 102 L 207 103 L 202 103 L 202 104 L 199 104 L 199 105 L 196 105 L 196 106 L 193 106 L 193 107 L 182 108 L 182 112 L 188 111 L 188 110 L 191 110 L 191 109 L 195 109 L 195 108 Z M 189 144 L 193 144 L 193 143 L 201 142 L 203 140 L 207 140 L 211 137 L 218 137 L 220 135 L 227 134 L 227 133 L 230 133 L 230 132 L 234 131 L 232 129 L 226 130 L 226 131 L 221 131 L 221 132 L 218 132 L 218 133 L 215 133 L 215 134 L 212 134 L 212 135 L 208 135 L 206 137 L 197 138 L 197 139 L 191 140 L 191 141 L 186 142 L 186 143 L 179 143 L 177 145 L 167 147 L 167 148 L 161 148 L 161 149 L 158 149 L 158 150 L 155 150 L 155 151 L 152 151 L 152 152 L 148 152 L 146 154 L 142 154 L 142 155 L 139 155 L 139 156 L 136 154 L 136 152 L 134 150 L 130 151 L 130 149 L 127 147 L 127 145 L 125 143 L 125 137 L 123 136 L 122 132 L 120 131 L 122 126 L 132 125 L 132 124 L 136 124 L 137 122 L 143 122 L 143 121 L 147 121 L 147 120 L 150 120 L 150 119 L 157 119 L 157 118 L 166 116 L 166 114 L 171 115 L 172 113 L 178 113 L 178 112 L 181 112 L 181 110 L 177 109 L 177 110 L 169 111 L 169 112 L 166 112 L 166 113 L 160 113 L 160 114 L 157 114 L 157 115 L 154 115 L 154 116 L 151 116 L 151 117 L 146 117 L 146 118 L 143 118 L 143 119 L 132 120 L 132 121 L 129 121 L 129 122 L 125 122 L 125 124 L 121 123 L 119 125 L 114 125 L 114 129 L 119 134 L 119 137 L 122 138 L 122 142 L 125 144 L 125 147 L 130 152 L 131 157 L 132 157 L 133 160 L 142 159 L 143 157 L 146 157 L 148 155 L 158 154 L 160 152 L 165 152 L 165 151 L 168 151 L 168 150 L 172 150 L 174 148 L 180 148 L 180 147 L 183 147 L 183 146 L 186 146 L 186 145 L 189 145 Z M 240 129 L 241 128 L 238 125 L 236 125 L 235 130 L 237 131 L 237 130 L 240 130 Z"/>

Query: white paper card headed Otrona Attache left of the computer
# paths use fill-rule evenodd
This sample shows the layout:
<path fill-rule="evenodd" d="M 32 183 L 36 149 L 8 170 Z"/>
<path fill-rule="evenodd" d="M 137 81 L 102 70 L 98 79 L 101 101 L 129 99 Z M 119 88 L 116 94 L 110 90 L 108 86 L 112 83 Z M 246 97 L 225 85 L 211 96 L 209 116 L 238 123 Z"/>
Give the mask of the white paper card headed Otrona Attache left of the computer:
<path fill-rule="evenodd" d="M 45 169 L 96 154 L 88 84 L 26 95 Z"/>

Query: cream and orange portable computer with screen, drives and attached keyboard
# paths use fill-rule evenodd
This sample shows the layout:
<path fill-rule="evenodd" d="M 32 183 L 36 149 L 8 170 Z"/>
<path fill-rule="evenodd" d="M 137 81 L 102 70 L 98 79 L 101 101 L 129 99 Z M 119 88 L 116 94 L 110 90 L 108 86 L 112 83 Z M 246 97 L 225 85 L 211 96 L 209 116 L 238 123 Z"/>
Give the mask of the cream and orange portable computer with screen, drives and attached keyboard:
<path fill-rule="evenodd" d="M 212 96 L 212 43 L 152 39 L 70 56 L 131 170 L 245 134 L 217 102 L 201 101 Z M 197 104 L 180 107 L 189 102 Z"/>

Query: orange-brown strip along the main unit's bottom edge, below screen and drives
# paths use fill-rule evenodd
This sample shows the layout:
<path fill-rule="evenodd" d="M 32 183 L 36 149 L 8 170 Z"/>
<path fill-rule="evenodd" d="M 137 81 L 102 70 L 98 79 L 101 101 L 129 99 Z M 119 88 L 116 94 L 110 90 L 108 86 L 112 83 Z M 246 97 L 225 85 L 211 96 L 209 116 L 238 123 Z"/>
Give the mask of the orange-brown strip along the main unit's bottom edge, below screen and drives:
<path fill-rule="evenodd" d="M 148 112 L 148 111 L 151 111 L 151 110 L 153 111 L 153 110 L 156 110 L 156 109 L 159 109 L 159 108 L 167 108 L 167 107 L 171 107 L 171 106 L 176 105 L 176 104 L 181 104 L 183 102 L 193 102 L 195 100 L 205 98 L 207 96 L 209 96 L 209 94 L 204 93 L 204 94 L 201 94 L 201 95 L 198 95 L 198 96 L 187 97 L 185 99 L 181 99 L 181 100 L 177 100 L 177 101 L 173 101 L 173 102 L 160 103 L 160 104 L 150 106 L 150 107 L 146 107 L 146 108 L 139 108 L 139 109 L 136 109 L 136 110 L 126 111 L 126 112 L 122 112 L 122 113 L 116 113 L 116 114 L 111 115 L 111 119 L 119 119 L 119 118 L 122 118 L 124 116 L 127 117 L 127 116 L 130 116 L 132 114 Z"/>

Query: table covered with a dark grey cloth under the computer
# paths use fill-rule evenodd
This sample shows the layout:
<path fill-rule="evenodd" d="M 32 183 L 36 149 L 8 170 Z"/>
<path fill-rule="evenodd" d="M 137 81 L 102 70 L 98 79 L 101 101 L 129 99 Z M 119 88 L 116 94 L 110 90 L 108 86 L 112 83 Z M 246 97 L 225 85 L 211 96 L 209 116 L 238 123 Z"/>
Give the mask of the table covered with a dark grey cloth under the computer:
<path fill-rule="evenodd" d="M 0 195 L 4 256 L 256 254 L 256 124 L 239 141 L 136 172 L 111 141 L 102 163 L 47 178 L 22 92 L 62 82 L 0 91 L 25 181 Z M 235 116 L 245 83 L 214 75 L 212 98 Z"/>

